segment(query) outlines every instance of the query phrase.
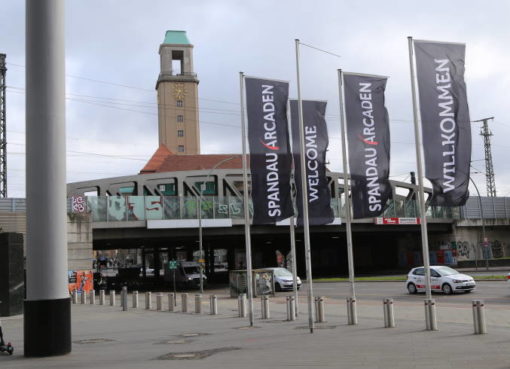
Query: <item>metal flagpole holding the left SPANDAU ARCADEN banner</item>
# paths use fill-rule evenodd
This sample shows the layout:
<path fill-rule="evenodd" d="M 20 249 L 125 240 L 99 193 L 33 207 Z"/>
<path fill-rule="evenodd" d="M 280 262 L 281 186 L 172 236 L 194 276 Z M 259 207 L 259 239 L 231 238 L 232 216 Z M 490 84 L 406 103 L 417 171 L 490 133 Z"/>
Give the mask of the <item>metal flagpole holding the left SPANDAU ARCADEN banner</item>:
<path fill-rule="evenodd" d="M 250 209 L 248 208 L 248 170 L 246 161 L 246 127 L 244 119 L 244 73 L 239 72 L 239 84 L 241 92 L 241 136 L 243 146 L 243 208 L 244 208 L 244 238 L 246 244 L 246 284 L 248 289 L 248 315 L 250 327 L 253 327 L 253 284 L 251 269 L 251 234 L 250 234 Z"/>

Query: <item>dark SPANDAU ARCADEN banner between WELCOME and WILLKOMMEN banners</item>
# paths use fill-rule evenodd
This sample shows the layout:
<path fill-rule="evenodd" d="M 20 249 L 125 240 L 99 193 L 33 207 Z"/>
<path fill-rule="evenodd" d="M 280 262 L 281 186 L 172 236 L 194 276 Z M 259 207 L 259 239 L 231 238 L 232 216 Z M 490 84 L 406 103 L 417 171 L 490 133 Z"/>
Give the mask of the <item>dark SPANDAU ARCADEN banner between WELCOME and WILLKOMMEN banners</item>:
<path fill-rule="evenodd" d="M 391 197 L 386 77 L 344 73 L 353 218 L 376 217 Z"/>

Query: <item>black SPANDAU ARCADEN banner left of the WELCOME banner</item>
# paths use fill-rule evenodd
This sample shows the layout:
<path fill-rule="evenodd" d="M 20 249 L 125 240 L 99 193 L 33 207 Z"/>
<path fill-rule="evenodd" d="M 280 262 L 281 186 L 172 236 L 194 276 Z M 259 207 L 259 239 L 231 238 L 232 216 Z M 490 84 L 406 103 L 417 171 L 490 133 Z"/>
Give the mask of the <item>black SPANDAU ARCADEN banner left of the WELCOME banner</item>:
<path fill-rule="evenodd" d="M 288 82 L 246 77 L 253 224 L 294 215 L 287 125 Z"/>

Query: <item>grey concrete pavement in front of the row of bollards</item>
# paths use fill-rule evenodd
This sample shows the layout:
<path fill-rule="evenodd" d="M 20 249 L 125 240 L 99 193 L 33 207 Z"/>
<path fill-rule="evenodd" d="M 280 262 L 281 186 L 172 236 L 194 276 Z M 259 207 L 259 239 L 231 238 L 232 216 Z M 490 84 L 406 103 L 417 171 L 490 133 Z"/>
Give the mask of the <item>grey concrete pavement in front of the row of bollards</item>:
<path fill-rule="evenodd" d="M 470 306 L 439 305 L 439 331 L 429 332 L 420 303 L 399 302 L 396 328 L 383 328 L 382 302 L 359 301 L 359 324 L 348 326 L 345 303 L 326 299 L 327 322 L 310 334 L 304 297 L 293 322 L 285 321 L 284 294 L 271 298 L 269 320 L 260 319 L 255 299 L 253 328 L 237 317 L 237 300 L 226 294 L 219 296 L 216 316 L 208 315 L 205 296 L 200 315 L 180 312 L 180 299 L 173 313 L 145 310 L 143 295 L 138 309 L 123 312 L 117 299 L 115 307 L 73 305 L 73 352 L 67 356 L 25 359 L 22 317 L 3 319 L 16 351 L 0 356 L 0 368 L 488 369 L 510 362 L 510 312 L 503 305 L 488 307 L 488 334 L 474 335 Z M 166 294 L 164 300 L 166 308 Z M 194 311 L 193 294 L 188 311 Z"/>

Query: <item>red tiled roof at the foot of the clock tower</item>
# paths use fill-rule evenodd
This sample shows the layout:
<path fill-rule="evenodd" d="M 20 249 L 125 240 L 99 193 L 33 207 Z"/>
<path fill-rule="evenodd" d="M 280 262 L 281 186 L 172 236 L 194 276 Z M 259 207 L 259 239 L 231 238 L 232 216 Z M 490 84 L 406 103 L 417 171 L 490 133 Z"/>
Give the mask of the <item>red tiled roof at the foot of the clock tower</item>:
<path fill-rule="evenodd" d="M 218 165 L 218 163 L 221 163 Z M 140 174 L 203 169 L 241 169 L 241 154 L 175 155 L 164 145 L 152 155 Z"/>

